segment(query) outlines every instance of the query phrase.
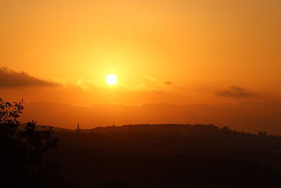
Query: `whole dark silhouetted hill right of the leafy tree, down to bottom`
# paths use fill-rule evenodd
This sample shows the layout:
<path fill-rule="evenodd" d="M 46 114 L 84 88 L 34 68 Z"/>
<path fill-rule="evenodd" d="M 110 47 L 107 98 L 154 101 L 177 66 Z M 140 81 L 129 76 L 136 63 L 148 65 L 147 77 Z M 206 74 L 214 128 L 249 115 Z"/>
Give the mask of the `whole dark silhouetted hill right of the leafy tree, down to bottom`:
<path fill-rule="evenodd" d="M 281 177 L 281 139 L 265 132 L 168 124 L 55 135 L 60 143 L 52 155 L 60 174 L 79 186 L 275 187 Z"/>

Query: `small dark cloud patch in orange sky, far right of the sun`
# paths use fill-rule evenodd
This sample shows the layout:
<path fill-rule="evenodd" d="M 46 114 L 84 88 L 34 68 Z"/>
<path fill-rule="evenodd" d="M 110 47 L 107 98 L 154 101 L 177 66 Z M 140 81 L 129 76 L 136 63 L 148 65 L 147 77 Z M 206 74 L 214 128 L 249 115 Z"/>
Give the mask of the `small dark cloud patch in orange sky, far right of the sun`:
<path fill-rule="evenodd" d="M 225 89 L 221 92 L 216 92 L 216 95 L 233 97 L 233 98 L 242 98 L 245 96 L 252 96 L 254 95 L 254 92 L 247 91 L 238 86 L 232 86 L 230 87 L 230 89 Z"/>

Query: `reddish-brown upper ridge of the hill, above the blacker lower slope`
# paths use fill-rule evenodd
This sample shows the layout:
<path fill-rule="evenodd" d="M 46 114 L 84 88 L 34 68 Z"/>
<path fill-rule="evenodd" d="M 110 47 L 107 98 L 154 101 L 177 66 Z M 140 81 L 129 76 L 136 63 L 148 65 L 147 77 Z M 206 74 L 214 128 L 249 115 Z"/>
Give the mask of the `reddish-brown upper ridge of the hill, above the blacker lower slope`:
<path fill-rule="evenodd" d="M 275 164 L 281 158 L 280 136 L 237 132 L 215 125 L 113 125 L 56 134 L 61 143 L 106 151 L 218 156 L 263 163 L 270 158 Z"/>

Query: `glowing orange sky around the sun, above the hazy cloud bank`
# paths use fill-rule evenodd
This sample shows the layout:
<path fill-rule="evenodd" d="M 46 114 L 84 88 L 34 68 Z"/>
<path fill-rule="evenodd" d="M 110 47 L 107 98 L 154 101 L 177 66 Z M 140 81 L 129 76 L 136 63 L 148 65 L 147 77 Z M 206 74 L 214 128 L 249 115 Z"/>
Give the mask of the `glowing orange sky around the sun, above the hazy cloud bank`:
<path fill-rule="evenodd" d="M 279 0 L 2 0 L 1 97 L 79 106 L 280 101 L 280 10 Z"/>

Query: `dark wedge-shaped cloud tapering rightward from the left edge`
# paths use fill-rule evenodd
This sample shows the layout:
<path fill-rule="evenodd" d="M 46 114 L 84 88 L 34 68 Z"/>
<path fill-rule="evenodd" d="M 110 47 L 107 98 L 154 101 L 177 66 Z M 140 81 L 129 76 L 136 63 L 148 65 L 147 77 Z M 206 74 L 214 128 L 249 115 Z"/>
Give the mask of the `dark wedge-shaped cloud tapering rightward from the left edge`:
<path fill-rule="evenodd" d="M 56 87 L 60 84 L 32 77 L 24 72 L 0 68 L 0 87 Z"/>

